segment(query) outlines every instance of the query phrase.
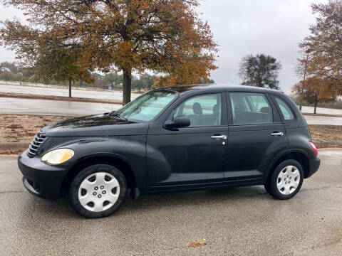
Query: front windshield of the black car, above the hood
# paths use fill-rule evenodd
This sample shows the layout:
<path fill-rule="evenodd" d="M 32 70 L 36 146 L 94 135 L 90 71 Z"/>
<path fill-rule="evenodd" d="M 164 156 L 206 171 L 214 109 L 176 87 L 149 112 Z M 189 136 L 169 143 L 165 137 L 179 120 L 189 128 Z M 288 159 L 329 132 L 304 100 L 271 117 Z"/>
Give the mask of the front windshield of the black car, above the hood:
<path fill-rule="evenodd" d="M 115 114 L 126 119 L 150 121 L 175 99 L 176 93 L 172 90 L 147 92 L 116 111 Z"/>

